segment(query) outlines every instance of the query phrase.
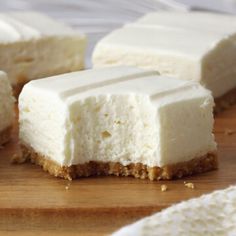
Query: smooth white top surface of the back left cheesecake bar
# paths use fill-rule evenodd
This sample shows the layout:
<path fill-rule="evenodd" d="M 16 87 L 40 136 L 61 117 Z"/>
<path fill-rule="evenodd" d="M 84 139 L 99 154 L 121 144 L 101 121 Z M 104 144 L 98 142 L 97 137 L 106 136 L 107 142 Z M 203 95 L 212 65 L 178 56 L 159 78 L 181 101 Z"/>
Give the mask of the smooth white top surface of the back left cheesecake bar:
<path fill-rule="evenodd" d="M 40 37 L 83 34 L 37 12 L 0 14 L 0 43 L 12 43 Z"/>

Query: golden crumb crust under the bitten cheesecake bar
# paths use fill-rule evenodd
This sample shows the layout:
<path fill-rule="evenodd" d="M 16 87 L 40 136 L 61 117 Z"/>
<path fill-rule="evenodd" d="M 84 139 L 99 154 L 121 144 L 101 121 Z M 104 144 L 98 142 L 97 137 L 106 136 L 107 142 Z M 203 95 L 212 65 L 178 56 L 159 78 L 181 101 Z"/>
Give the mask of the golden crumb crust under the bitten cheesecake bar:
<path fill-rule="evenodd" d="M 102 163 L 93 161 L 85 164 L 61 167 L 57 163 L 35 152 L 32 148 L 21 145 L 21 149 L 22 157 L 18 160 L 14 160 L 15 162 L 22 163 L 30 161 L 31 163 L 40 165 L 43 170 L 48 171 L 55 177 L 61 177 L 68 180 L 95 175 L 133 176 L 140 179 L 170 180 L 218 168 L 216 153 L 208 153 L 187 162 L 164 167 L 148 167 L 141 163 L 123 166 L 120 163 Z"/>

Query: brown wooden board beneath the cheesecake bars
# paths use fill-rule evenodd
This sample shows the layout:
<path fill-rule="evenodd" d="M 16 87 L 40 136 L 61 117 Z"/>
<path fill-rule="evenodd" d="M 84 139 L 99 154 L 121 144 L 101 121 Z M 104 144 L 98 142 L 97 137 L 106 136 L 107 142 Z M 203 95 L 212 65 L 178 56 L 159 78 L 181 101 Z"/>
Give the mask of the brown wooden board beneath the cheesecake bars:
<path fill-rule="evenodd" d="M 92 177 L 69 182 L 32 164 L 12 165 L 14 138 L 0 150 L 0 232 L 4 235 L 106 235 L 174 203 L 236 184 L 236 106 L 216 118 L 220 168 L 184 179 L 151 182 Z M 161 184 L 168 191 L 161 192 Z"/>

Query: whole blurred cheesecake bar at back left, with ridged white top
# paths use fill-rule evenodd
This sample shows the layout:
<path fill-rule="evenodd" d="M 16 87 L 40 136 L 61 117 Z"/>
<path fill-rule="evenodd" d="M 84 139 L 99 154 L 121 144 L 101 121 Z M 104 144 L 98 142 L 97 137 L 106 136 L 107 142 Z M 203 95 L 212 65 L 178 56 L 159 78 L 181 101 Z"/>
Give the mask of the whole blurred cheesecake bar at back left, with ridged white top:
<path fill-rule="evenodd" d="M 18 95 L 30 80 L 84 68 L 85 35 L 36 12 L 0 14 L 0 68 Z"/>

